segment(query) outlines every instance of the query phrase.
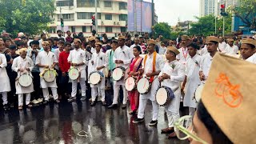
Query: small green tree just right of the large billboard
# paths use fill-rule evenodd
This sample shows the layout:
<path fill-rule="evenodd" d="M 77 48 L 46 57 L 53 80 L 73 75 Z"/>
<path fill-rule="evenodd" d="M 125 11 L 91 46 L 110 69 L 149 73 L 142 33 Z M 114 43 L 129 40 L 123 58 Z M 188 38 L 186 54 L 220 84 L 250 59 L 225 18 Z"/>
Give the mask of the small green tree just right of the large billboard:
<path fill-rule="evenodd" d="M 163 39 L 170 39 L 170 25 L 167 22 L 159 22 L 153 27 L 154 38 L 162 35 Z"/>

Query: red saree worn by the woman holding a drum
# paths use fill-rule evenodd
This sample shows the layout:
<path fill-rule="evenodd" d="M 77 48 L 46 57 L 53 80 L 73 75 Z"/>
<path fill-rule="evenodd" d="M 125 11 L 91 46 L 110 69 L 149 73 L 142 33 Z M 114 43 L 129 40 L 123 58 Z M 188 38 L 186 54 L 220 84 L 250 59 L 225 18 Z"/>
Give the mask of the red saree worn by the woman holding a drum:
<path fill-rule="evenodd" d="M 142 57 L 133 58 L 130 62 L 130 72 L 138 72 L 138 69 L 142 66 Z M 139 77 L 137 76 L 139 79 Z M 138 82 L 138 81 L 137 81 Z M 130 100 L 130 109 L 132 111 L 138 110 L 138 90 L 133 90 L 128 92 L 129 100 Z"/>

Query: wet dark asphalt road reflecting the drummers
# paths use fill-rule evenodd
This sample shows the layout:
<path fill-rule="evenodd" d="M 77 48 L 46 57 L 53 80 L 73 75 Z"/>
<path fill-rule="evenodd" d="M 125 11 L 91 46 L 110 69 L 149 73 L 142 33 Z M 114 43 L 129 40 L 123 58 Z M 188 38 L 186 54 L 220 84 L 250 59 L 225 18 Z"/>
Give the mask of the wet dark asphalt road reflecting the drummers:
<path fill-rule="evenodd" d="M 106 93 L 106 101 L 111 102 L 111 94 Z M 135 118 L 128 114 L 130 108 L 110 110 L 98 102 L 91 107 L 90 102 L 59 104 L 49 103 L 31 109 L 0 111 L 0 144 L 11 143 L 97 143 L 97 144 L 162 144 L 188 143 L 178 139 L 168 139 L 161 134 L 166 128 L 167 118 L 164 108 L 158 114 L 158 126 L 148 126 L 151 121 L 152 106 L 146 107 L 145 122 L 134 124 Z M 78 133 L 86 136 L 79 136 Z"/>

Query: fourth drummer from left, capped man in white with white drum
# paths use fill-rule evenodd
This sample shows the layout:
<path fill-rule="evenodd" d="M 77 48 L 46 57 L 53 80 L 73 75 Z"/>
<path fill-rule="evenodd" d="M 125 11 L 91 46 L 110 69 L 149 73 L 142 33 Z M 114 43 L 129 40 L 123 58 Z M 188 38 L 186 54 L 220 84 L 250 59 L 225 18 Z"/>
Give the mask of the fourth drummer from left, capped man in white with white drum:
<path fill-rule="evenodd" d="M 105 102 L 105 75 L 103 74 L 103 69 L 108 65 L 108 60 L 106 54 L 102 51 L 102 43 L 96 42 L 95 43 L 95 50 L 96 52 L 93 53 L 91 58 L 91 70 L 93 72 L 90 73 L 89 80 L 90 80 L 90 87 L 91 87 L 91 96 L 92 101 L 90 106 L 95 106 L 96 104 L 96 96 L 97 96 L 97 89 L 99 90 L 98 93 L 101 93 L 102 96 L 102 106 L 106 106 Z M 98 74 L 98 75 L 95 75 Z M 96 76 L 96 77 L 94 77 Z M 99 76 L 99 78 L 98 78 Z M 95 81 L 95 82 L 94 82 Z"/>

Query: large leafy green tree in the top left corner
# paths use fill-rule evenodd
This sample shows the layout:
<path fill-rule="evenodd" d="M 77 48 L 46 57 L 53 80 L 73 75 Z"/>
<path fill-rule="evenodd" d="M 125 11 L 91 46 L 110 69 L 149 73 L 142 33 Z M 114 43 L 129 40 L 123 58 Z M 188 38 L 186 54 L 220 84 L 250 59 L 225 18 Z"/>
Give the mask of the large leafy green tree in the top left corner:
<path fill-rule="evenodd" d="M 54 10 L 54 0 L 0 0 L 0 29 L 38 34 L 53 21 Z"/>

